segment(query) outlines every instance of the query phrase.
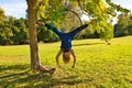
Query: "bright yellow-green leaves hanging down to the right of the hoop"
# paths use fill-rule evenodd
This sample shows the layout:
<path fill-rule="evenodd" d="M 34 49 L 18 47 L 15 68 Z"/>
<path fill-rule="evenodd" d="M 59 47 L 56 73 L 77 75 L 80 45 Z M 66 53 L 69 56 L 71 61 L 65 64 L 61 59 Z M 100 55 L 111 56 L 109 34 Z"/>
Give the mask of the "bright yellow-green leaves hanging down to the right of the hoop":
<path fill-rule="evenodd" d="M 111 40 L 113 37 L 113 26 L 111 18 L 116 16 L 113 7 L 108 7 L 103 0 L 81 0 L 85 3 L 84 10 L 90 18 L 89 32 L 98 33 L 102 40 Z"/>

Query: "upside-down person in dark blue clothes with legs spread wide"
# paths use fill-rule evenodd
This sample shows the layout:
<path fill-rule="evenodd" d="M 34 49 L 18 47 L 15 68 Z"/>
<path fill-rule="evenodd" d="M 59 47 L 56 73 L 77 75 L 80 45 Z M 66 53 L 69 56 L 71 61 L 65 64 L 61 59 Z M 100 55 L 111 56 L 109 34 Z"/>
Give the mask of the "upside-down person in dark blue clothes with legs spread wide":
<path fill-rule="evenodd" d="M 44 24 L 42 23 L 42 21 L 37 22 L 38 24 Z M 52 30 L 53 32 L 55 32 L 58 36 L 59 36 L 59 40 L 62 42 L 62 45 L 61 45 L 61 50 L 58 51 L 57 55 L 56 55 L 56 63 L 57 63 L 57 66 L 61 67 L 59 63 L 58 63 L 58 58 L 59 56 L 63 54 L 63 61 L 64 63 L 69 63 L 70 61 L 70 54 L 73 55 L 74 57 L 74 63 L 73 63 L 73 68 L 75 68 L 75 63 L 76 63 L 76 55 L 72 48 L 72 41 L 74 38 L 74 36 L 80 32 L 81 30 L 84 30 L 85 28 L 88 26 L 88 24 L 85 24 L 85 25 L 81 25 L 68 33 L 64 33 L 59 30 L 57 30 L 56 28 L 54 28 L 53 25 L 50 25 L 50 24 L 45 24 L 45 26 L 47 29 L 51 29 L 52 26 Z"/>

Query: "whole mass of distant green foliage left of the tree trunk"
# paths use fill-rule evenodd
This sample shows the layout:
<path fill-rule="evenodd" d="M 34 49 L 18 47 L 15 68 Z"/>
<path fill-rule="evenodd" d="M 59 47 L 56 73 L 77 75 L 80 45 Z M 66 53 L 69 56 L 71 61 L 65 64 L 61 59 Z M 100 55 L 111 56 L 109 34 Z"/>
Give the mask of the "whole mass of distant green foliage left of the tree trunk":
<path fill-rule="evenodd" d="M 26 20 L 6 16 L 0 28 L 0 45 L 29 43 Z"/>

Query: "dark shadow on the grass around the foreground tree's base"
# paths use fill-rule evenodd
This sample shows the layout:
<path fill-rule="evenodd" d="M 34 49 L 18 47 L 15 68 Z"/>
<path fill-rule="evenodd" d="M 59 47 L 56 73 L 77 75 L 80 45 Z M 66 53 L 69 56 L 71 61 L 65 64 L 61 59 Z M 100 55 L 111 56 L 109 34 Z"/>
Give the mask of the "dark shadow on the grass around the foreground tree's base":
<path fill-rule="evenodd" d="M 33 73 L 30 70 L 30 65 L 0 65 L 0 88 L 50 88 L 59 87 L 62 85 L 81 84 L 78 76 L 64 76 L 56 78 L 54 75 L 44 73 Z"/>

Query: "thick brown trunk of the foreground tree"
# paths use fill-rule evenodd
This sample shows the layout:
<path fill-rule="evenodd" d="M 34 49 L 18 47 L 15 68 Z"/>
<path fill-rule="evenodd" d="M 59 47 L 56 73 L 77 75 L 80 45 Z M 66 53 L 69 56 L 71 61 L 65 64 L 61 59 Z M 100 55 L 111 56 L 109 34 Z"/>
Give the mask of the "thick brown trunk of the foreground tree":
<path fill-rule="evenodd" d="M 38 58 L 37 34 L 35 23 L 35 11 L 37 0 L 26 0 L 28 2 L 28 18 L 29 18 L 29 35 L 30 35 L 30 51 L 31 51 L 31 69 L 37 69 L 41 66 Z"/>

